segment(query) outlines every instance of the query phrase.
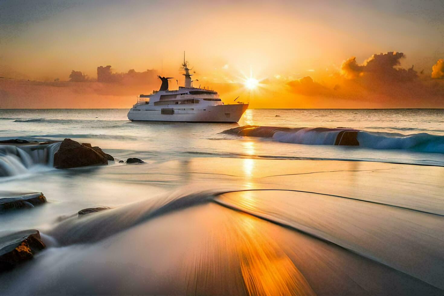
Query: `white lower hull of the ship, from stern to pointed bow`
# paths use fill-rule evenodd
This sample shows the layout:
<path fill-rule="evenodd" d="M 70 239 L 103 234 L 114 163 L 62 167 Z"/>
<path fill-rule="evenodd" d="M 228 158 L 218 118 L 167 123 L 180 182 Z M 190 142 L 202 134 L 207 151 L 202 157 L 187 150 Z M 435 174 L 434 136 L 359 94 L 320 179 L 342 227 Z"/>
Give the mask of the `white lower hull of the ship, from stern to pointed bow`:
<path fill-rule="evenodd" d="M 131 108 L 128 119 L 135 121 L 174 121 L 174 122 L 238 122 L 248 108 L 248 104 L 205 106 L 200 110 L 191 108 L 164 108 L 164 110 L 142 110 Z M 163 114 L 164 113 L 164 114 Z M 171 113 L 171 114 L 165 114 Z"/>

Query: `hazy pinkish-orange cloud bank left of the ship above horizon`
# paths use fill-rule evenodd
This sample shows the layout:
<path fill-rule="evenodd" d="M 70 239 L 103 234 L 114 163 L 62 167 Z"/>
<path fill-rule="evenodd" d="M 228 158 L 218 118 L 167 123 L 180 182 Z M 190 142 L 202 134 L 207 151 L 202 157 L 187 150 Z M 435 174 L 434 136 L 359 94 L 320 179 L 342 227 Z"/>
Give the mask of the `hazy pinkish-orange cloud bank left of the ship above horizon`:
<path fill-rule="evenodd" d="M 98 69 L 99 81 L 89 79 L 82 71 L 71 71 L 69 81 L 0 77 L 0 108 L 126 108 L 135 103 L 135 96 L 149 94 L 160 86 L 156 70 L 113 73 L 111 66 Z M 32 97 L 27 95 L 30 93 Z"/>

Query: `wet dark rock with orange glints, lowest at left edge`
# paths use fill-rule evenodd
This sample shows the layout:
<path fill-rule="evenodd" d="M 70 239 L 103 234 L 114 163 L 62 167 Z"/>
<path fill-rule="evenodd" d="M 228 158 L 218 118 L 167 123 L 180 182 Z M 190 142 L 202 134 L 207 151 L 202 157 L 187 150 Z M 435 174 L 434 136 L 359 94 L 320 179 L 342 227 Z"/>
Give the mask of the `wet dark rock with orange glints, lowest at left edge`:
<path fill-rule="evenodd" d="M 36 229 L 0 232 L 0 272 L 31 259 L 45 244 Z"/>

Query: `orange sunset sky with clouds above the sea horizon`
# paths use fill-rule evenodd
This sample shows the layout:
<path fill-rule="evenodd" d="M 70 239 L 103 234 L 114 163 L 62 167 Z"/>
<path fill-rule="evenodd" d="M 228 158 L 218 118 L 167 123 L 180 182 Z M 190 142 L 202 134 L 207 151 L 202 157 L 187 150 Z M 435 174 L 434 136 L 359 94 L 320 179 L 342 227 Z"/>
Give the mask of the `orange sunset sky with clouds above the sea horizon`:
<path fill-rule="evenodd" d="M 158 79 L 100 83 L 97 67 L 183 81 L 184 50 L 194 79 L 227 103 L 444 107 L 441 1 L 311 2 L 4 1 L 0 76 L 45 83 L 0 79 L 0 107 L 131 107 Z M 89 81 L 64 82 L 72 70 Z M 250 76 L 258 87 L 245 87 Z"/>

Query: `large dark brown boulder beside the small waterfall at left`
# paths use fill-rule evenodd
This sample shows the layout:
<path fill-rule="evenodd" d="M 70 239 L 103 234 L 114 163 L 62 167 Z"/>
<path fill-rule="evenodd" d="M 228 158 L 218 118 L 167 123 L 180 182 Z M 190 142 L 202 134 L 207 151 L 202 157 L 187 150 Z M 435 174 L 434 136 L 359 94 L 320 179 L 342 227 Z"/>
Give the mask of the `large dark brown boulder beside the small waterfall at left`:
<path fill-rule="evenodd" d="M 54 154 L 54 167 L 57 169 L 107 164 L 107 158 L 99 152 L 68 138 L 63 140 L 59 150 Z"/>

